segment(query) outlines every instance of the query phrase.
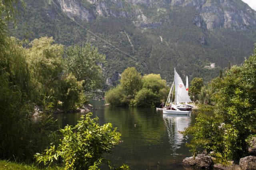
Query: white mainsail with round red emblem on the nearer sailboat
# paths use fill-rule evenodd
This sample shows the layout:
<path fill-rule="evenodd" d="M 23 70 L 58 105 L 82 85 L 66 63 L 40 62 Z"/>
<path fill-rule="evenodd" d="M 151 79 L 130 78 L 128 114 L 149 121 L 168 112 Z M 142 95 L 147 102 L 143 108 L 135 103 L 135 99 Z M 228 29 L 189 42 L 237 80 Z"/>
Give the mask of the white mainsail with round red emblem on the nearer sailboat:
<path fill-rule="evenodd" d="M 182 82 L 180 75 L 174 70 L 174 82 L 175 82 L 175 102 L 191 102 L 188 92 Z"/>

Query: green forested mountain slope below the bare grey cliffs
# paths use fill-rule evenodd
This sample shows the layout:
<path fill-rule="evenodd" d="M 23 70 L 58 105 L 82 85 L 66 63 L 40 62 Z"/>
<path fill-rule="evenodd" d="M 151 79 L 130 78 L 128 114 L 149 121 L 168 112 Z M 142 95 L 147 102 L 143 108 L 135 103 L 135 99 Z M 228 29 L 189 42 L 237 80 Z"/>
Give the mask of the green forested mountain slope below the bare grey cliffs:
<path fill-rule="evenodd" d="M 104 65 L 104 70 L 112 85 L 118 80 L 118 73 L 123 72 L 128 66 L 135 66 L 142 74 L 161 74 L 167 82 L 172 81 L 173 70 L 176 67 L 182 78 L 185 75 L 188 75 L 190 80 L 194 77 L 203 77 L 207 82 L 218 76 L 219 69 L 227 67 L 229 62 L 241 64 L 244 57 L 250 56 L 253 52 L 256 42 L 254 25 L 245 25 L 245 29 L 207 29 L 204 25 L 206 23 L 199 18 L 198 27 L 195 18 L 200 14 L 196 6 L 147 6 L 121 1 L 125 3 L 120 9 L 111 4 L 111 0 L 106 0 L 99 2 L 108 3 L 110 13 L 111 10 L 112 13 L 124 11 L 128 12 L 130 17 L 114 16 L 115 14 L 100 16 L 94 14 L 95 12 L 90 21 L 73 17 L 84 28 L 134 59 L 72 21 L 60 9 L 58 2 L 25 0 L 26 9 L 20 10 L 20 16 L 17 17 L 18 28 L 14 29 L 10 23 L 11 35 L 30 40 L 52 36 L 57 43 L 66 46 L 90 42 L 106 55 L 107 64 Z M 238 2 L 237 8 L 246 10 L 246 6 Z M 95 5 L 86 0 L 79 3 L 89 11 L 95 10 Z M 147 16 L 147 20 L 150 20 L 148 23 L 140 23 L 139 27 L 134 24 L 138 22 L 134 14 L 138 9 Z M 204 68 L 210 63 L 215 63 L 216 68 Z"/>

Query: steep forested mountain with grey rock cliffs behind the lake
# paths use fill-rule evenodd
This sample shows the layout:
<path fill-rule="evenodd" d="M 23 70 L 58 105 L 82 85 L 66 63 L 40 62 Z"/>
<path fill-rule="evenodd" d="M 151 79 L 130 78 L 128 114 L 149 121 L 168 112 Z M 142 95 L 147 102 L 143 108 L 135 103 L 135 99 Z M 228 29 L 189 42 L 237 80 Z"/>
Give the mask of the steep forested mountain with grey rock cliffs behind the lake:
<path fill-rule="evenodd" d="M 91 43 L 106 55 L 107 85 L 114 85 L 128 66 L 142 74 L 161 74 L 168 82 L 172 82 L 174 67 L 182 77 L 208 81 L 228 63 L 241 64 L 256 42 L 256 12 L 242 0 L 25 3 L 26 9 L 20 9 L 17 17 L 18 29 L 10 23 L 11 35 L 30 40 L 52 36 L 66 46 Z M 216 68 L 204 68 L 210 63 Z"/>

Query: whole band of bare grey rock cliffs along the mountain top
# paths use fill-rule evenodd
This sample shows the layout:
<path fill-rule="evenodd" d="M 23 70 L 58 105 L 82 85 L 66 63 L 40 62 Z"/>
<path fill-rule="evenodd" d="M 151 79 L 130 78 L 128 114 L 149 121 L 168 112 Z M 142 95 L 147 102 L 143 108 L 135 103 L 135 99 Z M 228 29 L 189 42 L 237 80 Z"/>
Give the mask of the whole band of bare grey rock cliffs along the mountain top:
<path fill-rule="evenodd" d="M 241 0 L 58 0 L 63 12 L 85 21 L 97 16 L 131 18 L 137 27 L 157 27 L 161 22 L 143 11 L 159 13 L 171 7 L 194 7 L 194 22 L 207 29 L 231 28 L 244 30 L 256 26 L 256 12 Z"/>

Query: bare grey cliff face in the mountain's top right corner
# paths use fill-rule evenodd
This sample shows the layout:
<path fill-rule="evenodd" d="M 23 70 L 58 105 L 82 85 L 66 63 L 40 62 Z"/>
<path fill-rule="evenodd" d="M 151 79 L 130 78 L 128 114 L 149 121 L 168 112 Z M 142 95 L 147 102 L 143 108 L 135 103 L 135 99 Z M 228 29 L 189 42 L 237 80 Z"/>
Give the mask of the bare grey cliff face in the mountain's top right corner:
<path fill-rule="evenodd" d="M 256 12 L 242 1 L 205 0 L 198 11 L 207 29 L 224 27 L 244 30 L 256 26 Z"/>

